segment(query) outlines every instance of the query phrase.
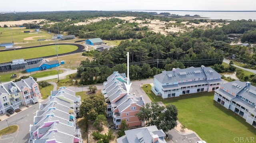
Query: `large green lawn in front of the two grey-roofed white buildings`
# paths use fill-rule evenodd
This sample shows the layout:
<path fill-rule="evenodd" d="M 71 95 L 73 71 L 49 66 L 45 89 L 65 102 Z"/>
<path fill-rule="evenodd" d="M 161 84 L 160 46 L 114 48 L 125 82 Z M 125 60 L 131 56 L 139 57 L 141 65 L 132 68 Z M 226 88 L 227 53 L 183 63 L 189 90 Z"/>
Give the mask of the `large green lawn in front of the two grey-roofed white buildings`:
<path fill-rule="evenodd" d="M 256 129 L 245 119 L 213 100 L 214 92 L 182 95 L 162 99 L 151 92 L 150 84 L 142 87 L 152 101 L 174 104 L 178 108 L 178 119 L 195 131 L 207 143 L 232 143 L 234 137 L 255 137 Z"/>

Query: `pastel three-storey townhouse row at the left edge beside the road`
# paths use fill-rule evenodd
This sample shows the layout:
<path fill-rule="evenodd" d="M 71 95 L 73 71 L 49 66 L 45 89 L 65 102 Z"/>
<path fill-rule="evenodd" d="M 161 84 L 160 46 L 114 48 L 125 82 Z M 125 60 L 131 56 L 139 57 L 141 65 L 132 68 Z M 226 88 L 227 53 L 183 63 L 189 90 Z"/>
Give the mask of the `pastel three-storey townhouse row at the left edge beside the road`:
<path fill-rule="evenodd" d="M 20 105 L 35 104 L 39 98 L 42 98 L 39 86 L 31 76 L 18 82 L 0 84 L 0 114 L 5 114 L 8 109 L 15 111 Z"/>

